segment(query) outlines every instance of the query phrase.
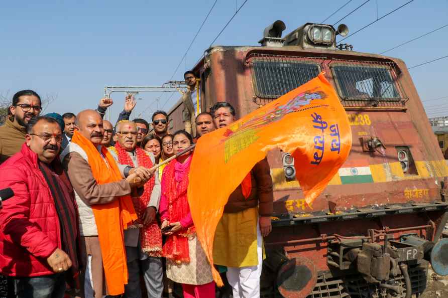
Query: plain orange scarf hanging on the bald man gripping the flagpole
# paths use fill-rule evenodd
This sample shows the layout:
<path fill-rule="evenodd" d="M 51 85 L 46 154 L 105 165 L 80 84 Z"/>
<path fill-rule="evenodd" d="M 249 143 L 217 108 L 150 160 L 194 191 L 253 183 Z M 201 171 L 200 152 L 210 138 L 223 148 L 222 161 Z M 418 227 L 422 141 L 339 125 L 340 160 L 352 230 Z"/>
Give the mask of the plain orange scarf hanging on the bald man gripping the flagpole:
<path fill-rule="evenodd" d="M 103 160 L 93 143 L 77 130 L 71 140 L 86 153 L 97 184 L 107 184 L 123 179 L 114 158 L 104 146 L 101 146 Z M 123 229 L 127 229 L 128 224 L 138 217 L 130 195 L 122 196 L 108 204 L 92 205 L 91 207 L 98 230 L 107 293 L 120 295 L 125 292 L 125 284 L 128 283 Z"/>

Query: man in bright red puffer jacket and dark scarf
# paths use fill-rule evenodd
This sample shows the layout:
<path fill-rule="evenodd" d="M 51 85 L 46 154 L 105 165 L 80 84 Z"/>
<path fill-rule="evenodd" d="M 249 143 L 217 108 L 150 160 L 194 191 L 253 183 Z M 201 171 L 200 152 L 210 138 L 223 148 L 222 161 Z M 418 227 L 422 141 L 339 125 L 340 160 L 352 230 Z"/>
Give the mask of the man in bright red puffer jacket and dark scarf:
<path fill-rule="evenodd" d="M 15 278 L 19 297 L 62 298 L 77 275 L 73 188 L 57 157 L 62 137 L 55 119 L 35 117 L 22 150 L 0 166 L 0 189 L 15 194 L 0 210 L 0 273 Z"/>

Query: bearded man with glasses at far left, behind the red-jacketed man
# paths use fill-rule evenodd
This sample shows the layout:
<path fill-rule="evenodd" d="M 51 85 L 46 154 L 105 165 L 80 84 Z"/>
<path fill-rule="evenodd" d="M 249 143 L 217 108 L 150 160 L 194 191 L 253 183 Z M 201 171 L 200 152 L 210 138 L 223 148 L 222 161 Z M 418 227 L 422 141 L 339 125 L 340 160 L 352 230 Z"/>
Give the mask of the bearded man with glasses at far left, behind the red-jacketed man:
<path fill-rule="evenodd" d="M 0 164 L 21 150 L 27 134 L 25 126 L 41 110 L 41 98 L 33 90 L 22 90 L 14 94 L 13 104 L 9 107 L 10 116 L 0 126 Z"/>

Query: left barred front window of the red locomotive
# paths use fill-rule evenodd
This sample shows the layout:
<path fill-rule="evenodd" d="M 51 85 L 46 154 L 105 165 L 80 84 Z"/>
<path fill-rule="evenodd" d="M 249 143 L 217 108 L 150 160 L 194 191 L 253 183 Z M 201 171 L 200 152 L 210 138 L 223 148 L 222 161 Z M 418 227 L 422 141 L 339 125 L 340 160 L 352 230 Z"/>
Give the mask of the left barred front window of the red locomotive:
<path fill-rule="evenodd" d="M 307 61 L 275 57 L 251 63 L 254 92 L 259 98 L 278 98 L 319 74 L 319 64 Z"/>

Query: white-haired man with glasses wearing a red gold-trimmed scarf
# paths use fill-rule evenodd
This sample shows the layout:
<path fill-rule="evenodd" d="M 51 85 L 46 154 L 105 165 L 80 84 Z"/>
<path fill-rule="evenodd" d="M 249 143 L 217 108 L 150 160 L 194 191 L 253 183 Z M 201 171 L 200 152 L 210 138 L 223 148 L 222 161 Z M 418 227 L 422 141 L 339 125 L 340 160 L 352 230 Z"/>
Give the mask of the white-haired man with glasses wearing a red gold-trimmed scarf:
<path fill-rule="evenodd" d="M 116 126 L 117 142 L 109 147 L 109 152 L 121 165 L 151 168 L 155 164 L 152 153 L 137 146 L 137 125 L 131 121 L 121 121 Z M 139 220 L 125 230 L 126 255 L 129 280 L 125 286 L 125 296 L 141 297 L 140 268 L 149 297 L 161 297 L 163 291 L 162 233 L 156 221 L 159 208 L 161 186 L 158 175 L 152 175 L 145 184 L 143 194 L 133 196 L 134 208 Z"/>

